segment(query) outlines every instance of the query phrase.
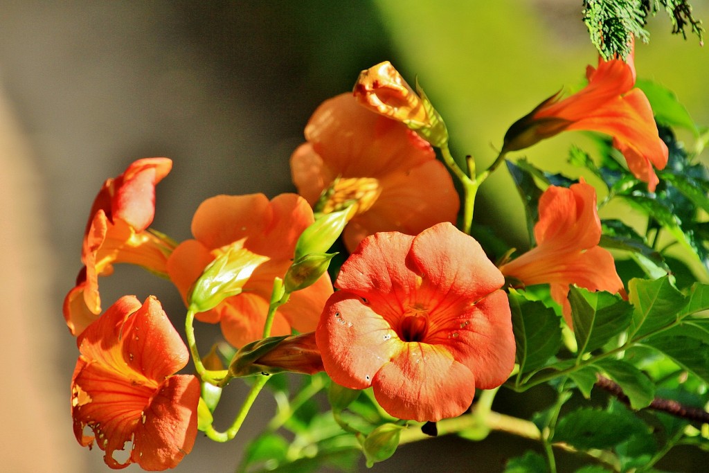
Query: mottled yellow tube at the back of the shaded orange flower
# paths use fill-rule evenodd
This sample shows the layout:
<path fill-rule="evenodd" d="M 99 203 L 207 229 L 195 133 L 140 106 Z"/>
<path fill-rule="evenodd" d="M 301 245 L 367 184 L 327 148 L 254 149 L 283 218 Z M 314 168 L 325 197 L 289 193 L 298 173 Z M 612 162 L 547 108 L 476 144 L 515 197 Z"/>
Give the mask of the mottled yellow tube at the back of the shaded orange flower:
<path fill-rule="evenodd" d="M 354 206 L 356 213 L 364 213 L 374 205 L 379 194 L 379 181 L 373 177 L 338 177 L 320 195 L 315 211 L 330 213 Z"/>

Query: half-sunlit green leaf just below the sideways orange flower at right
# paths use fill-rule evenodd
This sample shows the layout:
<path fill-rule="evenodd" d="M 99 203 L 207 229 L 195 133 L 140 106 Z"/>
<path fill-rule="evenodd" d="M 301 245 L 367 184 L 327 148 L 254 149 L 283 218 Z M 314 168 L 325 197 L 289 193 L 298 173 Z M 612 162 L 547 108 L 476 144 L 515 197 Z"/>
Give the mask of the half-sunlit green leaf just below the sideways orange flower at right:
<path fill-rule="evenodd" d="M 569 304 L 579 356 L 596 350 L 623 332 L 632 318 L 632 306 L 605 291 L 591 292 L 571 286 Z"/>

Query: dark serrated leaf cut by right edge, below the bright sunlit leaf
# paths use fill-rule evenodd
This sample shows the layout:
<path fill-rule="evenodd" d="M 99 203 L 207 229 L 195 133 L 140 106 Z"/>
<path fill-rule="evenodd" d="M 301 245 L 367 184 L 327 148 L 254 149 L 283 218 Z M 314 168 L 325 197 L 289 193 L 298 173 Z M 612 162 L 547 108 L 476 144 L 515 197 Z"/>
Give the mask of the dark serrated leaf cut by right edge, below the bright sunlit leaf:
<path fill-rule="evenodd" d="M 677 330 L 674 333 L 680 332 Z M 673 330 L 668 330 L 644 340 L 643 344 L 663 352 L 677 365 L 709 383 L 709 343 L 688 335 L 673 335 Z"/>

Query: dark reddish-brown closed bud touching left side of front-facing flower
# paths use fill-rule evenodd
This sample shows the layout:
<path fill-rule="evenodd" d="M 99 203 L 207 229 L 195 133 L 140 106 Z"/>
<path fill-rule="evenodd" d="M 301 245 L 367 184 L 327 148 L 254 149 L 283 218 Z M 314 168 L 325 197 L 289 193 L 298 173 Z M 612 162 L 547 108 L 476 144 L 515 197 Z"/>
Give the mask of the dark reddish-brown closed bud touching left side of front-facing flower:
<path fill-rule="evenodd" d="M 244 345 L 236 352 L 229 374 L 233 377 L 280 372 L 316 374 L 323 369 L 315 333 L 308 332 L 264 338 Z"/>

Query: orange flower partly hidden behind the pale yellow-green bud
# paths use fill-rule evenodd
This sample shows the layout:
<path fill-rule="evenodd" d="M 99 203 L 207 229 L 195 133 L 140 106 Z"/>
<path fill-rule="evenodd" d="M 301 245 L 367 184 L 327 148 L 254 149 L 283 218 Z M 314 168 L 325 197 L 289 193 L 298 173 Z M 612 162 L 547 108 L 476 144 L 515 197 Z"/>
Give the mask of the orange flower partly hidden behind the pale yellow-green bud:
<path fill-rule="evenodd" d="M 184 301 L 204 269 L 225 251 L 238 252 L 250 262 L 250 276 L 239 294 L 196 314 L 202 322 L 220 323 L 226 340 L 235 347 L 262 338 L 274 279 L 283 278 L 292 263 L 298 237 L 313 223 L 313 211 L 296 194 L 281 194 L 269 201 L 263 194 L 215 196 L 204 201 L 192 219 L 193 240 L 172 252 L 167 272 Z M 252 255 L 252 257 L 247 257 Z M 275 313 L 271 335 L 315 330 L 320 308 L 333 286 L 327 273 L 313 285 L 291 294 Z"/>

